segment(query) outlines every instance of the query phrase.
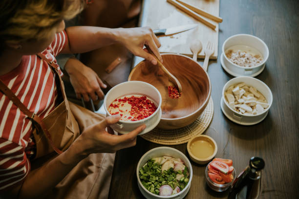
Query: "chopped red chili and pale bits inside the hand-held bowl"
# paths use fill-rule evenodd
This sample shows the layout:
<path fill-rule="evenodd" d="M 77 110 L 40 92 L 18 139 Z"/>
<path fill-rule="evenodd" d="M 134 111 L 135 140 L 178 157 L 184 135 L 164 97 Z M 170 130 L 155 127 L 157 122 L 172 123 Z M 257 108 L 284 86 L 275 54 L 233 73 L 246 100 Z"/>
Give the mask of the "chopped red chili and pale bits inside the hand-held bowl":
<path fill-rule="evenodd" d="M 155 104 L 146 96 L 129 95 L 112 101 L 108 107 L 111 115 L 119 114 L 121 120 L 137 121 L 148 118 L 157 110 Z"/>

